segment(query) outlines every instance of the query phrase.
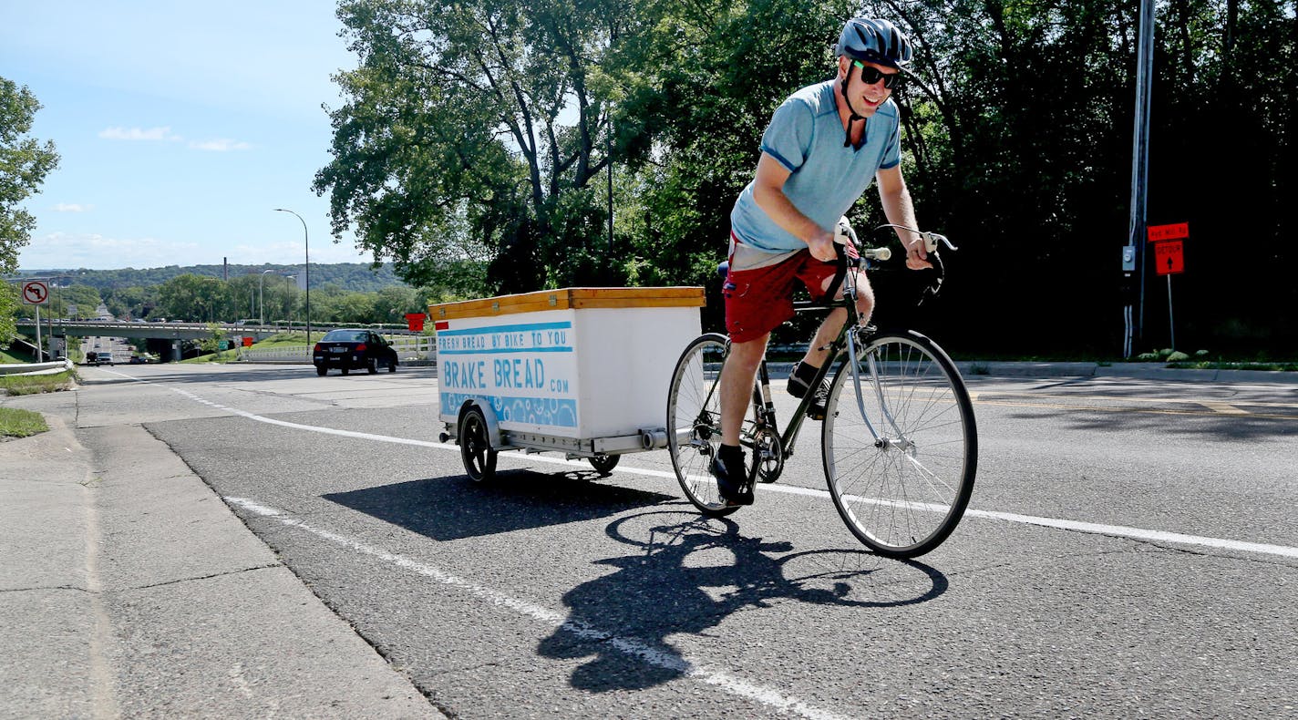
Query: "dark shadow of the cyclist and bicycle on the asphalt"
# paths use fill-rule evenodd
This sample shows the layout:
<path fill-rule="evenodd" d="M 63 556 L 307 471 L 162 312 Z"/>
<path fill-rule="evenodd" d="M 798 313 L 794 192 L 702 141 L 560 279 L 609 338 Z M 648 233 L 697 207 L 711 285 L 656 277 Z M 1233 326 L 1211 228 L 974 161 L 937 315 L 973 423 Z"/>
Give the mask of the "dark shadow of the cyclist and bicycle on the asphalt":
<path fill-rule="evenodd" d="M 744 537 L 726 519 L 653 510 L 610 523 L 609 537 L 636 547 L 597 560 L 617 572 L 563 595 L 567 621 L 537 651 L 588 662 L 574 688 L 633 690 L 688 675 L 693 664 L 667 637 L 704 634 L 732 612 L 794 601 L 842 607 L 897 607 L 946 592 L 946 577 L 915 560 L 864 550 L 793 551 L 789 542 Z M 898 581 L 898 573 L 906 576 Z"/>

